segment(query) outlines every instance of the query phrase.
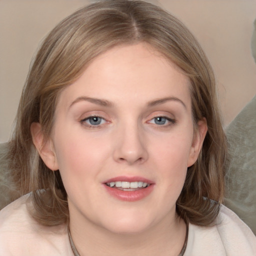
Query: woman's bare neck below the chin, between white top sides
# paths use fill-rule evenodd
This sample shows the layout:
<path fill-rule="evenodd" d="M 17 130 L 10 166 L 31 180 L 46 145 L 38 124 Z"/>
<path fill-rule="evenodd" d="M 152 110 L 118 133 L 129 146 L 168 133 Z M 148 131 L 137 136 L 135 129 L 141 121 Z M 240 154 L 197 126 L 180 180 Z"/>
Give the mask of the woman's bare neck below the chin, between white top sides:
<path fill-rule="evenodd" d="M 109 253 L 119 256 L 177 256 L 186 235 L 185 222 L 179 217 L 167 221 L 167 224 L 163 220 L 139 233 L 113 233 L 90 221 L 83 226 L 71 218 L 69 228 L 80 256 L 106 256 Z"/>

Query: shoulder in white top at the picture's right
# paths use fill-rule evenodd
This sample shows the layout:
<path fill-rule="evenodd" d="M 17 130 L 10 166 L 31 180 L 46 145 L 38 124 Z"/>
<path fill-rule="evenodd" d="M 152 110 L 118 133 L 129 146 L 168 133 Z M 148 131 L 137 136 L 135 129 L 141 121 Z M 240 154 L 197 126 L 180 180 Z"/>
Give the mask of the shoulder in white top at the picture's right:
<path fill-rule="evenodd" d="M 256 237 L 233 211 L 221 205 L 214 225 L 189 224 L 184 255 L 253 256 L 256 255 Z"/>

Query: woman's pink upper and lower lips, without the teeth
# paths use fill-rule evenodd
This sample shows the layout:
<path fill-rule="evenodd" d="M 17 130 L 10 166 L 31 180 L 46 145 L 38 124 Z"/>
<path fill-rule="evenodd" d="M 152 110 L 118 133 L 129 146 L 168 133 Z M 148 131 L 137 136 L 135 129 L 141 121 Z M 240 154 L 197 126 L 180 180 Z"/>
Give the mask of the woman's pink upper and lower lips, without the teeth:
<path fill-rule="evenodd" d="M 143 181 L 143 182 L 146 182 L 150 185 L 145 187 L 145 188 L 138 189 L 138 190 L 125 191 L 125 190 L 119 190 L 117 188 L 107 186 L 105 184 L 105 183 L 108 183 L 108 182 L 115 182 L 115 181 L 128 181 L 128 182 Z M 148 196 L 152 192 L 153 187 L 154 187 L 154 182 L 152 180 L 149 180 L 149 179 L 146 179 L 146 178 L 143 178 L 143 177 L 139 177 L 139 176 L 132 176 L 132 177 L 118 176 L 118 177 L 114 177 L 114 178 L 110 178 L 110 179 L 105 180 L 102 183 L 102 185 L 106 189 L 107 193 L 109 193 L 111 196 L 113 196 L 114 198 L 116 198 L 118 200 L 138 201 L 138 200 L 141 200 L 141 199 L 145 198 L 146 196 Z"/>

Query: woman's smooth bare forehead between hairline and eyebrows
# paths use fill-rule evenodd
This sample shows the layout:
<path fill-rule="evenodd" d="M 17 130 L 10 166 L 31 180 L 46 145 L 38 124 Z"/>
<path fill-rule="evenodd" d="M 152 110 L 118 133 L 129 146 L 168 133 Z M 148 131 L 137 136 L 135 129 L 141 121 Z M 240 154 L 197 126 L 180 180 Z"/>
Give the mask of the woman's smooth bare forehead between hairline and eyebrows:
<path fill-rule="evenodd" d="M 144 103 L 173 96 L 190 105 L 189 79 L 146 43 L 115 46 L 97 56 L 60 94 L 59 103 L 88 96 Z"/>

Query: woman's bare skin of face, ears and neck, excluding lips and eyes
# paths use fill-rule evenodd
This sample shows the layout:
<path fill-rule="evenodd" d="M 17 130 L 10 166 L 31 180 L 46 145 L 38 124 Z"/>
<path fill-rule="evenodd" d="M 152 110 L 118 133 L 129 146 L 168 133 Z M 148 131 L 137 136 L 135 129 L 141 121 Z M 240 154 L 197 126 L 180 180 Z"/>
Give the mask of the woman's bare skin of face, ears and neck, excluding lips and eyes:
<path fill-rule="evenodd" d="M 61 173 L 81 255 L 179 253 L 185 223 L 175 202 L 207 130 L 205 120 L 193 129 L 189 86 L 149 45 L 116 46 L 60 93 L 45 144 L 40 124 L 31 125 L 43 161 Z M 99 125 L 91 115 L 102 118 Z M 102 182 L 120 175 L 150 179 L 153 189 L 137 201 L 114 198 Z"/>

